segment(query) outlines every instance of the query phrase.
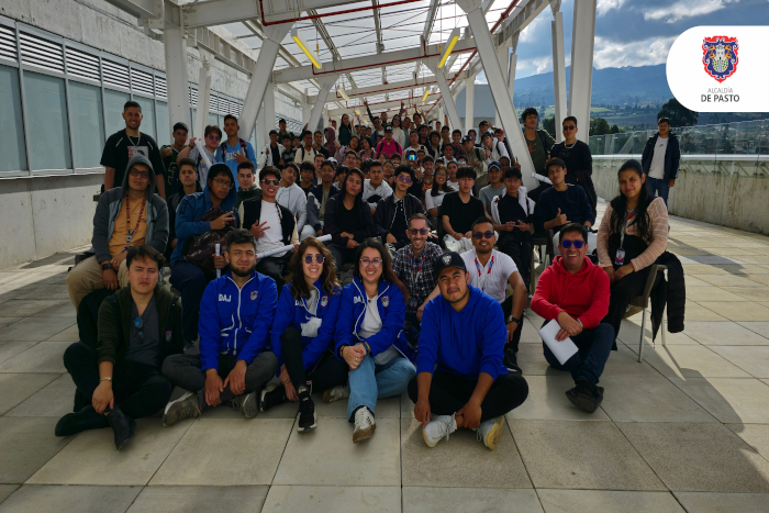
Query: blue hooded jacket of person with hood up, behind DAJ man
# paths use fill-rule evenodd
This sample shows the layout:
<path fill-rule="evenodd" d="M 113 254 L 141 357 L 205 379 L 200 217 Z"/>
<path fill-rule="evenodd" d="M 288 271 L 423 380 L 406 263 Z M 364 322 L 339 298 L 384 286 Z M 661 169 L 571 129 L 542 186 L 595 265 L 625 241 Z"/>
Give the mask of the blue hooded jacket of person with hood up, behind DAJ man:
<path fill-rule="evenodd" d="M 235 183 L 235 177 L 232 176 L 232 171 L 226 164 L 214 164 L 211 166 L 209 174 L 213 172 L 214 169 L 219 167 L 226 169 L 232 182 Z M 235 222 L 237 224 L 237 213 L 234 212 L 237 191 L 233 187 L 230 189 L 227 197 L 222 200 L 221 209 L 224 211 L 232 211 L 235 214 Z M 200 221 L 200 218 L 211 209 L 213 209 L 213 203 L 211 202 L 208 180 L 205 181 L 203 192 L 187 194 L 181 199 L 179 208 L 176 210 L 176 237 L 178 241 L 176 243 L 176 249 L 174 249 L 171 254 L 171 267 L 185 257 L 181 253 L 187 238 L 211 231 L 211 223 L 209 221 Z"/>

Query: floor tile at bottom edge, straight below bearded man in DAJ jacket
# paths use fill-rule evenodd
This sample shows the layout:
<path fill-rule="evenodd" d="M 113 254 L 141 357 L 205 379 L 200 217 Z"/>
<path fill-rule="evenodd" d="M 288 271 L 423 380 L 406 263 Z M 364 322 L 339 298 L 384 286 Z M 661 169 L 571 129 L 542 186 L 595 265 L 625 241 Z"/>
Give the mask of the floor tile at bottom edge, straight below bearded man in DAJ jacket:
<path fill-rule="evenodd" d="M 258 512 L 268 490 L 268 487 L 146 487 L 129 513 Z"/>

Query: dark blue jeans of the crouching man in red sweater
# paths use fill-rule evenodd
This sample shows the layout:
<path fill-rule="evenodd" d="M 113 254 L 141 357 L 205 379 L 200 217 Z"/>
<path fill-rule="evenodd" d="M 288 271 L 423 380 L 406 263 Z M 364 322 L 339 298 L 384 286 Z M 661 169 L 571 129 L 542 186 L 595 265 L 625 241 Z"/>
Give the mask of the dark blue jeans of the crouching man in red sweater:
<path fill-rule="evenodd" d="M 545 359 L 554 369 L 569 370 L 575 382 L 582 379 L 598 384 L 614 345 L 614 328 L 610 324 L 599 324 L 593 328 L 583 330 L 579 335 L 572 336 L 571 341 L 577 345 L 579 352 L 566 360 L 564 365 L 543 343 Z"/>

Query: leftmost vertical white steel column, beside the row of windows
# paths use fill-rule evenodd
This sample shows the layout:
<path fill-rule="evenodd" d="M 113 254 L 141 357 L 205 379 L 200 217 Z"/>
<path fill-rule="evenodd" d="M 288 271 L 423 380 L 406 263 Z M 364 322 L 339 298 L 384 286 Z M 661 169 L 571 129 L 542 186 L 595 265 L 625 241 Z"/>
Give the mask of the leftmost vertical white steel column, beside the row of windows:
<path fill-rule="evenodd" d="M 180 16 L 183 19 L 183 16 Z M 183 26 L 166 22 L 164 29 L 166 51 L 166 87 L 168 90 L 168 126 L 182 122 L 192 124 L 190 93 L 187 81 L 187 40 Z M 166 135 L 166 134 L 164 134 Z M 160 134 L 158 134 L 158 137 Z"/>

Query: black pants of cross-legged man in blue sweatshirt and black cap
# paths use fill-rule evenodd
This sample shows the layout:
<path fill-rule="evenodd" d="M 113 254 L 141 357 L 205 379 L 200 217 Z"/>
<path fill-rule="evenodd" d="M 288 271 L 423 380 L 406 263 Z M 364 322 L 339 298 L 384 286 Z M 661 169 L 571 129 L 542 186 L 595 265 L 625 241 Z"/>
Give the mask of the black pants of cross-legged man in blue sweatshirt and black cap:
<path fill-rule="evenodd" d="M 416 377 L 409 381 L 409 398 L 414 403 L 419 399 Z M 431 411 L 436 415 L 452 415 L 458 412 L 470 400 L 477 384 L 477 379 L 435 370 L 430 386 Z M 515 410 L 527 397 L 528 383 L 523 376 L 517 373 L 498 376 L 481 403 L 481 421 L 497 419 Z"/>

